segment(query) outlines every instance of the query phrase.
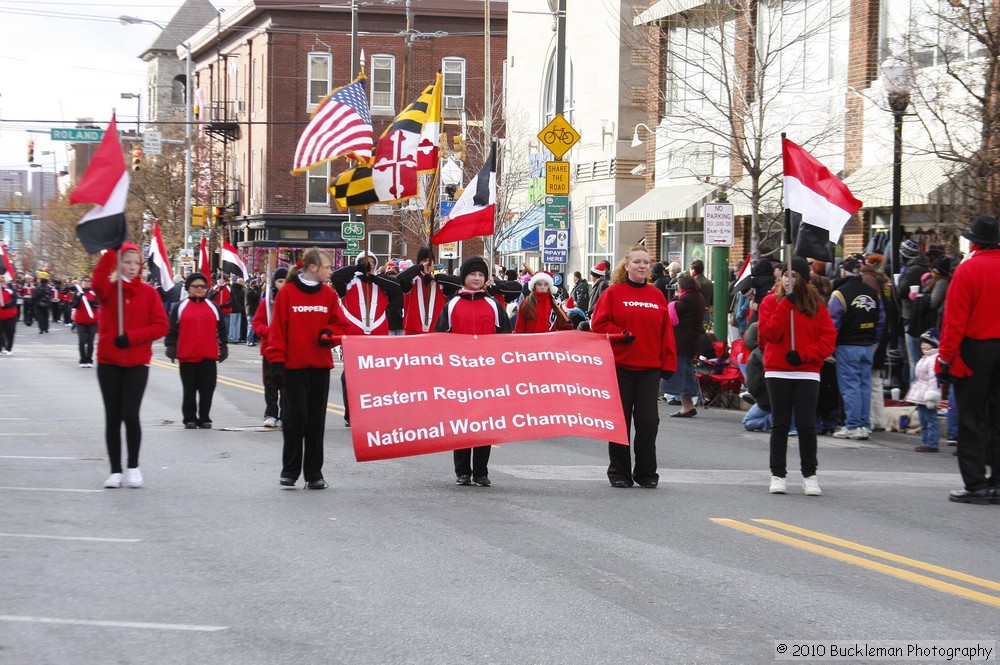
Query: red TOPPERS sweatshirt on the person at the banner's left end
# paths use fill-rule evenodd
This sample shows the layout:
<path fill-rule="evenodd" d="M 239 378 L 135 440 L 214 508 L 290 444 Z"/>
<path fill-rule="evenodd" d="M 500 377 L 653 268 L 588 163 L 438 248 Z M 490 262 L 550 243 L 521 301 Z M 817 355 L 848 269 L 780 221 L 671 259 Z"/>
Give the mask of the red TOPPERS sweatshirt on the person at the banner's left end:
<path fill-rule="evenodd" d="M 320 346 L 320 331 L 329 329 L 343 336 L 348 328 L 340 298 L 332 288 L 309 286 L 298 277 L 289 279 L 274 298 L 264 357 L 284 363 L 286 369 L 332 369 L 333 347 Z"/>

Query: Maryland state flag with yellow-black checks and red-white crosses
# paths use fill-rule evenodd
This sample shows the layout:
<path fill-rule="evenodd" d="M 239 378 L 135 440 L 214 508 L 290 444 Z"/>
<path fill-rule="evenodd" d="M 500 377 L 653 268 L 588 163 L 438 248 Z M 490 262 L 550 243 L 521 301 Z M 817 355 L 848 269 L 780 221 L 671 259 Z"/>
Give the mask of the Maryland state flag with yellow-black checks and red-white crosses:
<path fill-rule="evenodd" d="M 399 203 L 417 195 L 417 174 L 437 168 L 437 159 L 429 159 L 429 155 L 437 154 L 439 139 L 425 136 L 424 125 L 431 122 L 440 128 L 440 99 L 439 74 L 437 81 L 427 86 L 382 133 L 371 163 L 337 176 L 330 192 L 338 206 L 367 208 L 375 203 Z M 423 159 L 421 151 L 427 153 Z"/>

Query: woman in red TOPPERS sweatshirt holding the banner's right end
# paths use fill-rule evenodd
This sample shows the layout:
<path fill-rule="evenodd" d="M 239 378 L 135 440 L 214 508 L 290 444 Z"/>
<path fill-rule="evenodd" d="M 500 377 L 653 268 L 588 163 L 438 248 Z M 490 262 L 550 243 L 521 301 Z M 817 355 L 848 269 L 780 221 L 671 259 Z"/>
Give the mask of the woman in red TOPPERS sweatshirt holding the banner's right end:
<path fill-rule="evenodd" d="M 667 299 L 647 281 L 649 266 L 645 247 L 629 249 L 612 274 L 611 286 L 601 293 L 590 324 L 596 333 L 622 335 L 611 348 L 629 437 L 635 424 L 634 469 L 629 447 L 608 443 L 612 487 L 639 483 L 651 489 L 660 482 L 656 472 L 657 392 L 660 379 L 669 379 L 677 370 L 677 349 Z"/>

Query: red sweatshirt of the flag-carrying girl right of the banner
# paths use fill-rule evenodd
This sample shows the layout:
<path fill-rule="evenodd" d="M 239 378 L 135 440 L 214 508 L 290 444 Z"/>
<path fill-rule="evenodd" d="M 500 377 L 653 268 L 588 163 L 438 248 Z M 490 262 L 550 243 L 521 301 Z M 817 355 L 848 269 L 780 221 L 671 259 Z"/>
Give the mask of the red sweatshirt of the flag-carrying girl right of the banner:
<path fill-rule="evenodd" d="M 795 350 L 801 365 L 792 365 L 785 357 L 792 350 L 792 312 L 795 317 Z M 760 303 L 757 316 L 757 342 L 764 353 L 765 372 L 811 372 L 819 374 L 823 361 L 837 348 L 837 328 L 826 305 L 812 316 L 796 309 L 788 298 L 780 301 L 769 293 Z"/>

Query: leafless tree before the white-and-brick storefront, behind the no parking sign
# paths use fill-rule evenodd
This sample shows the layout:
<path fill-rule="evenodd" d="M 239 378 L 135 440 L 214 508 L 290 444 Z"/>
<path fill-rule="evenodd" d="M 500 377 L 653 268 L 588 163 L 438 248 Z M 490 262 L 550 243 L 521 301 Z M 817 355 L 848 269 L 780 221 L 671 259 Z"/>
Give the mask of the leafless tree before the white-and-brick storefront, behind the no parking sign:
<path fill-rule="evenodd" d="M 651 71 L 666 131 L 657 147 L 668 175 L 745 197 L 754 255 L 783 228 L 780 133 L 820 160 L 843 154 L 846 19 L 845 0 L 728 0 L 673 15 L 636 45 L 658 58 Z"/>

